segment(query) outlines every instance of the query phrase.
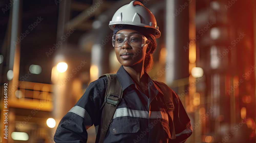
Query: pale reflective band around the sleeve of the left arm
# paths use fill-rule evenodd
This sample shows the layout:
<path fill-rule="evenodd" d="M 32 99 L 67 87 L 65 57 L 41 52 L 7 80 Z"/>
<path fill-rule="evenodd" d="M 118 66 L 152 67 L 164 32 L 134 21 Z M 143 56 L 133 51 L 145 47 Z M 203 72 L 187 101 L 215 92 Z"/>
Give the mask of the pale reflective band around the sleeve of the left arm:
<path fill-rule="evenodd" d="M 84 123 L 85 126 L 88 126 L 88 125 L 92 126 L 92 121 L 91 121 L 90 115 L 82 107 L 74 106 L 68 112 L 72 112 L 72 113 L 75 113 L 75 114 L 83 117 L 84 118 L 84 122 L 83 123 Z"/>

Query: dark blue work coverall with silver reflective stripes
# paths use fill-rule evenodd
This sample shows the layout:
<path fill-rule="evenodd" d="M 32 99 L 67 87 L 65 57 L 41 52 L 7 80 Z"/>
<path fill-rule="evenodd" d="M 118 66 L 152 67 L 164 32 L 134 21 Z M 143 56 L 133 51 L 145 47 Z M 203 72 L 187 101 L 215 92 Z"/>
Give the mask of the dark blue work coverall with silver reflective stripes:
<path fill-rule="evenodd" d="M 144 73 L 147 75 L 147 73 Z M 136 89 L 135 83 L 123 66 L 117 72 L 123 90 L 123 97 L 118 105 L 113 121 L 106 130 L 104 143 L 168 143 L 185 142 L 191 135 L 190 119 L 178 95 L 171 89 L 173 95 L 173 121 L 168 114 L 163 100 L 163 93 L 148 76 L 149 98 Z M 105 97 L 108 78 L 103 77 L 89 84 L 83 96 L 60 121 L 54 141 L 56 143 L 85 143 L 87 131 L 93 124 L 101 123 L 100 110 Z M 173 127 L 175 135 L 172 136 Z M 96 142 L 99 140 L 100 127 Z M 172 139 L 171 139 L 172 138 Z M 175 139 L 173 139 L 175 138 Z"/>

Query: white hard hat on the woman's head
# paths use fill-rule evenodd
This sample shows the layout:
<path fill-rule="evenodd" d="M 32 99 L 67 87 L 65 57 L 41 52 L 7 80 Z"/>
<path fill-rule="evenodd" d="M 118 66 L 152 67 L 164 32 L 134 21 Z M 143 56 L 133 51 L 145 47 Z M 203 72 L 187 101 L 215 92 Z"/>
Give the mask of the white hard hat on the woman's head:
<path fill-rule="evenodd" d="M 156 38 L 159 38 L 161 35 L 156 24 L 155 16 L 138 1 L 132 1 L 115 12 L 112 20 L 109 22 L 109 27 L 114 30 L 115 25 L 118 24 L 153 28 L 155 29 Z"/>

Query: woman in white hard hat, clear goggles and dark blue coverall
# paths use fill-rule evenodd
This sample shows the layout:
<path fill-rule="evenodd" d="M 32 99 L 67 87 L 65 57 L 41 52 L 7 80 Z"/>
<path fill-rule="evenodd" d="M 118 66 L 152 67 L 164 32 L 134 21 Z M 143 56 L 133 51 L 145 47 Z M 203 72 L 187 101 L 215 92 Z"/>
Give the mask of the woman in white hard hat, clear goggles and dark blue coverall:
<path fill-rule="evenodd" d="M 192 128 L 178 95 L 146 73 L 153 67 L 155 39 L 160 37 L 154 15 L 140 2 L 132 1 L 116 11 L 109 26 L 114 31 L 116 57 L 122 64 L 116 73 L 122 98 L 110 115 L 111 123 L 103 128 L 101 107 L 108 87 L 108 78 L 103 77 L 91 82 L 62 118 L 55 142 L 87 142 L 86 129 L 93 124 L 96 142 L 185 142 Z"/>

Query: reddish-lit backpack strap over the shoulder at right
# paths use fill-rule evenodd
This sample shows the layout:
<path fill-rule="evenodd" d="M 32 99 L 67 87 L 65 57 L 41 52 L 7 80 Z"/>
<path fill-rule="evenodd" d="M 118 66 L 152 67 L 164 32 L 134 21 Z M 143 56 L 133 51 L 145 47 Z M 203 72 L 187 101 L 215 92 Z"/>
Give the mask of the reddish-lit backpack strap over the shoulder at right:
<path fill-rule="evenodd" d="M 171 137 L 172 139 L 175 139 L 175 130 L 174 130 L 174 123 L 173 123 L 173 111 L 174 111 L 174 105 L 173 105 L 173 94 L 172 91 L 170 90 L 170 88 L 164 84 L 163 82 L 159 82 L 159 81 L 154 81 L 153 82 L 157 85 L 157 87 L 163 92 L 164 94 L 164 104 L 166 106 L 166 109 L 170 115 L 170 117 L 172 118 L 170 128 L 172 128 L 171 131 Z"/>

